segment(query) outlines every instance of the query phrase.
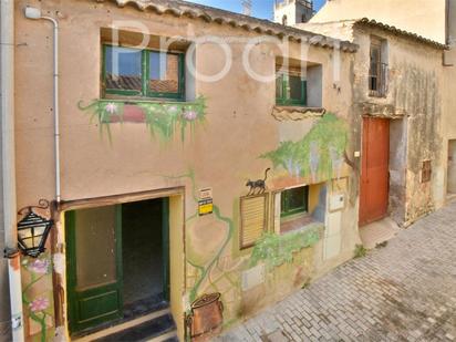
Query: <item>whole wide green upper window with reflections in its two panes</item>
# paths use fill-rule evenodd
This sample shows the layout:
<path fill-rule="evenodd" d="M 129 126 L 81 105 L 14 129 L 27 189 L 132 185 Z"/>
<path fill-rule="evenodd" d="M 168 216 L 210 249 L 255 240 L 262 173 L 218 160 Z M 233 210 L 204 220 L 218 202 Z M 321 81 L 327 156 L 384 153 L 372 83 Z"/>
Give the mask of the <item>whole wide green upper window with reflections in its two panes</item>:
<path fill-rule="evenodd" d="M 103 46 L 104 94 L 184 100 L 184 53 Z"/>

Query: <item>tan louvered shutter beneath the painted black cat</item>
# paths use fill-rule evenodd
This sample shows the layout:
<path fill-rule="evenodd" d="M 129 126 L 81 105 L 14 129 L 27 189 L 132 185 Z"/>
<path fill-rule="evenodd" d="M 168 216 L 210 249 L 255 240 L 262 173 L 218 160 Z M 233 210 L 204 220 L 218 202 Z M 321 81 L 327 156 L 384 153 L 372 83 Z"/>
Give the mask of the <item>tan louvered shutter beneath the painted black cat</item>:
<path fill-rule="evenodd" d="M 268 194 L 240 199 L 240 249 L 255 246 L 267 229 Z"/>

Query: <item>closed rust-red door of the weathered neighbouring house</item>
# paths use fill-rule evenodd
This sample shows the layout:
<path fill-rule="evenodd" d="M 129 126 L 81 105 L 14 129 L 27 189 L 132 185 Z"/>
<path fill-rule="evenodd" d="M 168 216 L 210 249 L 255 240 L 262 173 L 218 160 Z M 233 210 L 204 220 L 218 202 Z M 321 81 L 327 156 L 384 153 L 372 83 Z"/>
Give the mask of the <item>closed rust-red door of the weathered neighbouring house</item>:
<path fill-rule="evenodd" d="M 363 120 L 360 226 L 386 216 L 390 188 L 390 121 Z"/>

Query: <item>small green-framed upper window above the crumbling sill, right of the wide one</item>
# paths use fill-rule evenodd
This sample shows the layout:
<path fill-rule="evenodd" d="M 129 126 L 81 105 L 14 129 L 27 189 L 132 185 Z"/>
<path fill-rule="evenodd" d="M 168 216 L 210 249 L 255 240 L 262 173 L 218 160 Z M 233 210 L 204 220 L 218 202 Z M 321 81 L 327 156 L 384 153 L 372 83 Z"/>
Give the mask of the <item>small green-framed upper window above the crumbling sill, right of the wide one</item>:
<path fill-rule="evenodd" d="M 307 105 L 307 81 L 300 72 L 277 75 L 276 102 L 279 105 Z"/>

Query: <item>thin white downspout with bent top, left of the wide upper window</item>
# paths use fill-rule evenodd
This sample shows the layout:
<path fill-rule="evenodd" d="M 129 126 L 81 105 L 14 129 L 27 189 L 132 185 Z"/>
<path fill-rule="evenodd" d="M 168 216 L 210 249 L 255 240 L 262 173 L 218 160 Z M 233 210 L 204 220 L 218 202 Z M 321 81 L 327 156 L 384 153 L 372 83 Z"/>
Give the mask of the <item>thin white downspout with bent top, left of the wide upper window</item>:
<path fill-rule="evenodd" d="M 59 111 L 59 22 L 52 17 L 42 17 L 37 8 L 27 7 L 24 10 L 28 19 L 43 19 L 52 22 L 54 27 L 53 37 L 53 111 L 54 111 L 54 157 L 55 157 L 55 201 L 61 200 L 60 189 L 60 111 Z"/>

